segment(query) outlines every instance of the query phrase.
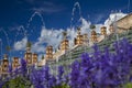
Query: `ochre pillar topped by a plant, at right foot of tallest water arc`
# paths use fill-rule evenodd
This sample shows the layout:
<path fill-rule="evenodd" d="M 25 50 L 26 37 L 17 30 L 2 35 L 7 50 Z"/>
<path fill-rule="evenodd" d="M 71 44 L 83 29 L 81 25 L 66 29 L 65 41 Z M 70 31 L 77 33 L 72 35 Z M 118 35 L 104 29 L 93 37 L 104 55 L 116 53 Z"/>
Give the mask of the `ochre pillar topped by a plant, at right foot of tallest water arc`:
<path fill-rule="evenodd" d="M 77 29 L 77 37 L 75 37 L 75 45 L 82 45 L 84 43 L 84 35 L 80 33 L 80 28 Z"/>

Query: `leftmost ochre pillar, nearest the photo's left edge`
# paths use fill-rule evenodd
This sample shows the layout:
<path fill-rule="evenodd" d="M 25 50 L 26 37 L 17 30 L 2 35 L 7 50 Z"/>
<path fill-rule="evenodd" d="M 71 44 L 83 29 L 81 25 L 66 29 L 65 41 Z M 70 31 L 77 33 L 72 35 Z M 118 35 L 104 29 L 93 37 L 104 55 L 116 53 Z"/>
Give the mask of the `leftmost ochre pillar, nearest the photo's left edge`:
<path fill-rule="evenodd" d="M 2 61 L 1 72 L 2 74 L 8 74 L 8 70 L 9 70 L 9 61 L 8 61 L 8 55 L 6 54 Z"/>

